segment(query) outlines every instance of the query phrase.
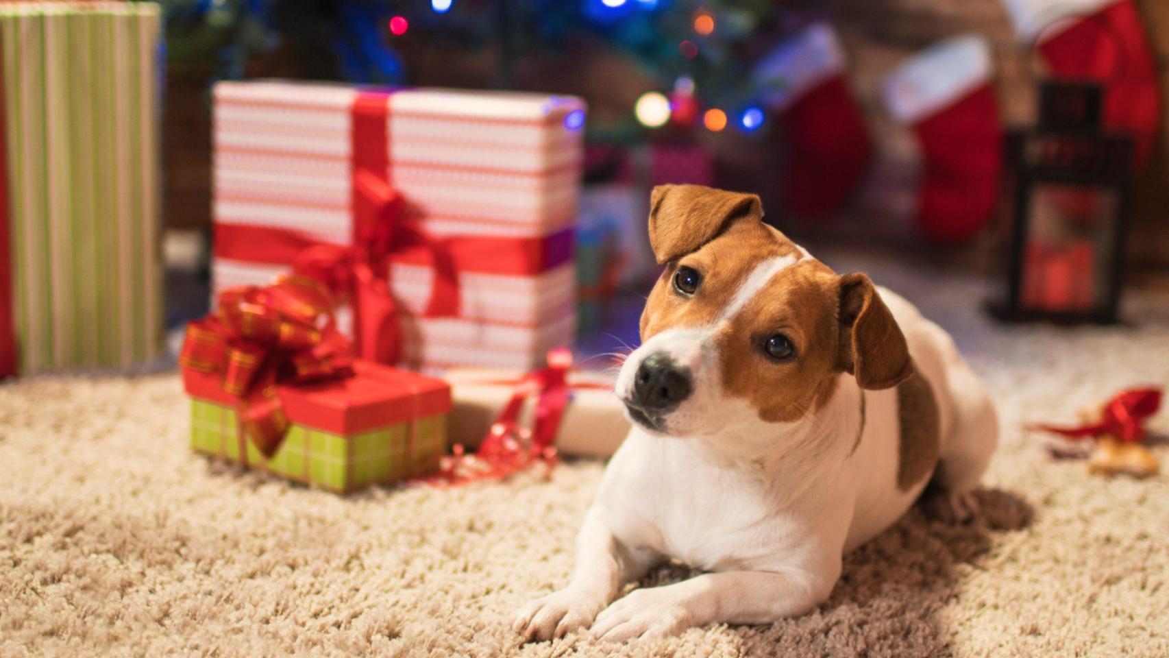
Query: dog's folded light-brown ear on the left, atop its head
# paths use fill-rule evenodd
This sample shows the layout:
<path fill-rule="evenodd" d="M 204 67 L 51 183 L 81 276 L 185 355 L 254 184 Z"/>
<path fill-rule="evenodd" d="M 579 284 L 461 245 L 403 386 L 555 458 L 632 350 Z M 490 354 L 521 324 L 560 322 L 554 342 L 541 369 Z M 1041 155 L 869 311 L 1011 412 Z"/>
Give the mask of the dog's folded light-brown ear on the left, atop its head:
<path fill-rule="evenodd" d="M 763 219 L 759 196 L 700 185 L 659 185 L 650 195 L 650 247 L 658 263 L 667 263 L 696 251 L 740 219 Z"/>

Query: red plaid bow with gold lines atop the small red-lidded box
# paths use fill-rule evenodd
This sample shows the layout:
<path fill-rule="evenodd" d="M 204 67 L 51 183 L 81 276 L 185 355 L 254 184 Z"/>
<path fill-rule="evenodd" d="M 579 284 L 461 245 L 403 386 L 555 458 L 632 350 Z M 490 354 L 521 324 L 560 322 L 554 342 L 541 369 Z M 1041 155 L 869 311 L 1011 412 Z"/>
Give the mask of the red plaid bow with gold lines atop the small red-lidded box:
<path fill-rule="evenodd" d="M 237 286 L 215 314 L 187 325 L 179 365 L 217 373 L 238 401 L 240 427 L 264 453 L 289 429 L 276 385 L 351 376 L 352 351 L 337 331 L 332 299 L 317 280 L 288 276 L 268 286 Z"/>

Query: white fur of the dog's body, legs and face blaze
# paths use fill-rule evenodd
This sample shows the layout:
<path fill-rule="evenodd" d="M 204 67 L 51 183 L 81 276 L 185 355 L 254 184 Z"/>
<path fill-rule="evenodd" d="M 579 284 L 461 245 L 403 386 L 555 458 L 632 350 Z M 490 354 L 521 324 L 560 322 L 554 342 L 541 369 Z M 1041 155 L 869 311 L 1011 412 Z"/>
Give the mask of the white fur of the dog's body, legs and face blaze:
<path fill-rule="evenodd" d="M 802 258 L 810 256 L 801 249 L 800 258 L 760 263 L 713 326 L 662 331 L 630 354 L 620 395 L 628 396 L 642 360 L 663 351 L 690 367 L 693 393 L 667 416 L 670 436 L 635 424 L 586 515 L 568 587 L 520 610 L 517 631 L 544 639 L 590 628 L 620 642 L 803 614 L 829 596 L 843 554 L 894 524 L 921 494 L 929 478 L 908 491 L 894 484 L 895 389 L 862 390 L 839 374 L 826 404 L 790 423 L 765 422 L 745 400 L 724 395 L 711 341 L 717 325 Z M 934 479 L 953 512 L 969 515 L 996 443 L 994 407 L 945 331 L 895 293 L 879 293 L 936 394 Z M 708 573 L 613 602 L 663 559 Z"/>

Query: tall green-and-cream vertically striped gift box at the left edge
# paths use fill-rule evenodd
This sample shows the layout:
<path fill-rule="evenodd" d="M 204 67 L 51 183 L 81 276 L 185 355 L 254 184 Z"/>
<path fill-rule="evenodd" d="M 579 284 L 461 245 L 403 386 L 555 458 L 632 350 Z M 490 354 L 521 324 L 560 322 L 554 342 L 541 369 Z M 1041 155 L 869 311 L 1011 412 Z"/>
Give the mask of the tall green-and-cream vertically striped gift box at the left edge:
<path fill-rule="evenodd" d="M 162 351 L 159 6 L 0 4 L 0 376 Z"/>

